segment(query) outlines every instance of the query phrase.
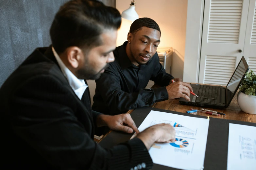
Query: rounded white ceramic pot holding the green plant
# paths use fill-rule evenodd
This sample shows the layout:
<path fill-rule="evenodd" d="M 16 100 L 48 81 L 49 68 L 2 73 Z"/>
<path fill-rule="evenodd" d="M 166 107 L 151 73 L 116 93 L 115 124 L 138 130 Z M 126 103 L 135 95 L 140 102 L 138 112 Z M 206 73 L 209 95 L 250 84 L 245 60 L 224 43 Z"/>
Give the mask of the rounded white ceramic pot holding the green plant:
<path fill-rule="evenodd" d="M 241 110 L 249 114 L 256 114 L 256 96 L 246 95 L 245 93 L 238 92 L 237 102 Z"/>

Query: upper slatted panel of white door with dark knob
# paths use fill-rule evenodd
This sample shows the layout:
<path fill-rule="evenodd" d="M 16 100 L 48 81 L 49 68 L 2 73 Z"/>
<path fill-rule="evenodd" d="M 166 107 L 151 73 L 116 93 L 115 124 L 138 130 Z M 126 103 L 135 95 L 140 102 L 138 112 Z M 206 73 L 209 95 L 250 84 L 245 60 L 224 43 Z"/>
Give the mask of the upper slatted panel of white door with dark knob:
<path fill-rule="evenodd" d="M 243 1 L 212 0 L 208 42 L 238 43 Z"/>

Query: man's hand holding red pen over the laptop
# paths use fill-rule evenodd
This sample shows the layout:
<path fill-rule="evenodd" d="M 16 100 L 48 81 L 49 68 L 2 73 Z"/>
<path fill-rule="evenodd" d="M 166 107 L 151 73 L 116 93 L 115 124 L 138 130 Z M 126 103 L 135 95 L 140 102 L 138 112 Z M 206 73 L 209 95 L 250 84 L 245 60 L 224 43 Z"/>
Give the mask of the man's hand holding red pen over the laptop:
<path fill-rule="evenodd" d="M 182 81 L 169 84 L 166 86 L 166 90 L 168 92 L 169 99 L 183 97 L 188 101 L 190 101 L 190 91 L 193 92 L 191 85 Z"/>

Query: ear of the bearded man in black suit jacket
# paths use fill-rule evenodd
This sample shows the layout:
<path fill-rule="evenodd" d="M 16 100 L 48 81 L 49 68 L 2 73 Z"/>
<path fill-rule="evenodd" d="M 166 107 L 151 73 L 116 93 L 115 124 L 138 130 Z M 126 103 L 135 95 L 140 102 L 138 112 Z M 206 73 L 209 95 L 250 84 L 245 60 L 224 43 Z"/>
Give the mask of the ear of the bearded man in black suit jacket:
<path fill-rule="evenodd" d="M 74 47 L 68 47 L 66 49 L 67 53 L 67 59 L 70 65 L 73 68 L 77 68 L 79 63 L 83 60 L 83 52 L 80 48 L 74 46 Z"/>

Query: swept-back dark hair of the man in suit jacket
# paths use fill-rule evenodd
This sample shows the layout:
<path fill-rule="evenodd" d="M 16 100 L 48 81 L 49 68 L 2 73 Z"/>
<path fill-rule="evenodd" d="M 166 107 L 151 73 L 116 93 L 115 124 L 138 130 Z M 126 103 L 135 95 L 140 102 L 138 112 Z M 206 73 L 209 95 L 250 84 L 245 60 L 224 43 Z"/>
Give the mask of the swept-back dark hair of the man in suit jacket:
<path fill-rule="evenodd" d="M 104 29 L 118 29 L 121 15 L 113 7 L 96 0 L 71 0 L 60 7 L 50 28 L 57 53 L 68 47 L 81 49 L 99 46 Z"/>

